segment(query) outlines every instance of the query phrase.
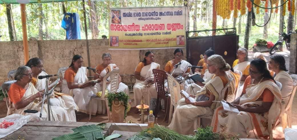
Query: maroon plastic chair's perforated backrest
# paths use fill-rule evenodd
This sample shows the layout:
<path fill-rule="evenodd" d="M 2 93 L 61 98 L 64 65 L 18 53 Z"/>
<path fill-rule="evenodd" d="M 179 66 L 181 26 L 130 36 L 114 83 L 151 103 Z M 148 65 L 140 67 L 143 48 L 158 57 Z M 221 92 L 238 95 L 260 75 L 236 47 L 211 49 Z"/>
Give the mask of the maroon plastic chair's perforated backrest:
<path fill-rule="evenodd" d="M 153 69 L 153 73 L 157 93 L 165 96 L 164 81 L 167 78 L 167 72 L 164 70 Z"/>

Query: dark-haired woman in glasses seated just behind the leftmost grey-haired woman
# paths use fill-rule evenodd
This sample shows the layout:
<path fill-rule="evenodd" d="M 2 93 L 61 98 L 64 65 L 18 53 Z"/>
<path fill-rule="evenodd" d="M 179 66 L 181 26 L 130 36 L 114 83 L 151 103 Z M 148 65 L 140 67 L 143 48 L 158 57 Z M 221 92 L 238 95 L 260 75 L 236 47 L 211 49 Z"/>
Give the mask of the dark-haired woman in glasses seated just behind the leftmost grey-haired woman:
<path fill-rule="evenodd" d="M 42 60 L 37 57 L 32 58 L 27 62 L 26 66 L 30 67 L 32 70 L 33 77 L 31 83 L 33 86 L 40 92 L 45 91 L 45 78 L 38 79 L 38 76 L 48 75 L 42 71 Z M 76 121 L 75 110 L 77 110 L 77 105 L 75 104 L 72 96 L 66 94 L 62 95 L 61 93 L 57 93 L 60 96 L 55 96 L 55 93 L 55 91 L 52 91 L 51 93 L 50 105 L 64 108 L 67 110 L 70 121 Z"/>

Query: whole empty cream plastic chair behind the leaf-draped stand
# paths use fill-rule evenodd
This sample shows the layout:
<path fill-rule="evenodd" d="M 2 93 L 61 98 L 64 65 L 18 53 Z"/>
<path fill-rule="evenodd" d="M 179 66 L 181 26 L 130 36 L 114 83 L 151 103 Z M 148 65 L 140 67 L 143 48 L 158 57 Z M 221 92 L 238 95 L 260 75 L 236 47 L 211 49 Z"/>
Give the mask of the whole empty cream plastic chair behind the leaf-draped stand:
<path fill-rule="evenodd" d="M 108 115 L 108 121 L 111 120 L 111 116 L 110 116 L 110 111 L 109 111 L 109 107 L 108 107 L 108 99 L 105 97 L 105 90 L 106 90 L 106 80 L 108 77 L 110 77 L 110 92 L 117 92 L 118 88 L 119 88 L 119 76 L 120 76 L 120 70 L 113 70 L 109 73 L 107 73 L 104 78 L 102 79 L 102 94 L 101 97 L 93 97 L 91 96 L 90 98 L 90 102 L 89 102 L 89 120 L 91 120 L 91 110 L 92 110 L 92 100 L 104 100 L 105 101 L 105 105 L 106 105 L 106 109 L 107 109 L 107 115 Z"/>

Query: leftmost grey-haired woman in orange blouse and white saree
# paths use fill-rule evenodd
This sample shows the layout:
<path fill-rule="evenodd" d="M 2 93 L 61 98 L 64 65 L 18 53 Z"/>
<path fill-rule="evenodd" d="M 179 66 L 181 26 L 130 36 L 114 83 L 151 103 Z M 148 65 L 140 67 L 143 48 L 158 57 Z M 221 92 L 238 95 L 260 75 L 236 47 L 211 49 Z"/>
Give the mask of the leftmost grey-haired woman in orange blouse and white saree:
<path fill-rule="evenodd" d="M 31 68 L 27 66 L 18 67 L 15 73 L 16 82 L 13 83 L 8 91 L 10 99 L 10 105 L 7 111 L 7 115 L 21 114 L 31 115 L 31 120 L 46 120 L 47 119 L 47 108 L 44 107 L 42 110 L 42 117 L 40 118 L 40 110 L 42 106 L 41 99 L 43 93 L 39 92 L 34 85 L 31 83 L 32 77 Z M 45 106 L 47 102 L 44 103 Z M 38 113 L 28 113 L 25 110 L 36 110 Z M 60 106 L 51 106 L 51 112 L 53 120 L 55 121 L 69 121 L 66 110 Z"/>

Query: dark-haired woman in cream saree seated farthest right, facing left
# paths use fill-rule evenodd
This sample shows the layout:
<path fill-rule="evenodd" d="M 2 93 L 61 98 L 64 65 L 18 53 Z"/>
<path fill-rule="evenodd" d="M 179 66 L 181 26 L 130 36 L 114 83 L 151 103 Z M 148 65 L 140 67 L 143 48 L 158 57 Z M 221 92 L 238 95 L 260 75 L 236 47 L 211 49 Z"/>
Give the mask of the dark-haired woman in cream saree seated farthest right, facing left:
<path fill-rule="evenodd" d="M 290 95 L 293 90 L 293 79 L 286 72 L 288 70 L 286 68 L 285 63 L 285 58 L 282 55 L 274 54 L 270 56 L 268 67 L 269 70 L 274 71 L 276 74 L 274 80 L 282 83 L 282 101 L 284 101 L 285 106 L 287 106 L 287 103 L 289 102 Z"/>

